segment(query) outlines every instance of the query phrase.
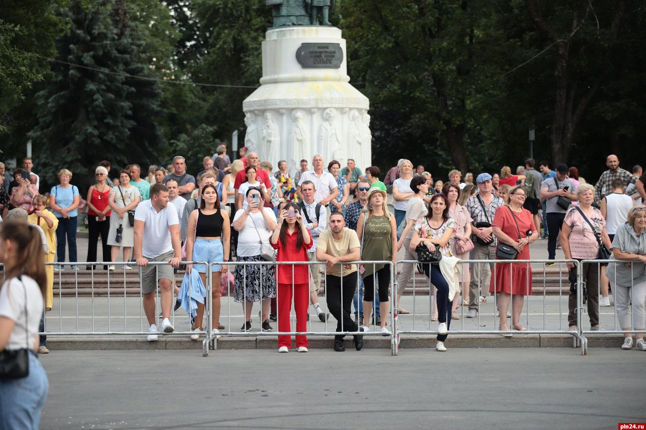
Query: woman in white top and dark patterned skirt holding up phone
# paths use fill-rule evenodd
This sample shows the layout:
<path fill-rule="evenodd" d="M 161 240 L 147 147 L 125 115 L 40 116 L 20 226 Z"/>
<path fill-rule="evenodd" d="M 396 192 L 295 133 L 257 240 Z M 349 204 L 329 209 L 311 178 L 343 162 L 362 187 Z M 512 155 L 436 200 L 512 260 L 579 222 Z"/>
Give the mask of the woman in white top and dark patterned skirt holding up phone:
<path fill-rule="evenodd" d="M 276 229 L 274 211 L 263 207 L 264 200 L 258 187 L 247 189 L 247 209 L 240 209 L 233 218 L 233 228 L 238 231 L 238 261 L 264 261 L 261 245 L 269 245 L 269 238 Z M 262 329 L 272 331 L 269 325 L 271 298 L 276 297 L 275 265 L 236 265 L 233 300 L 244 303 L 245 323 L 241 331 L 251 330 L 253 302 L 262 301 Z"/>

